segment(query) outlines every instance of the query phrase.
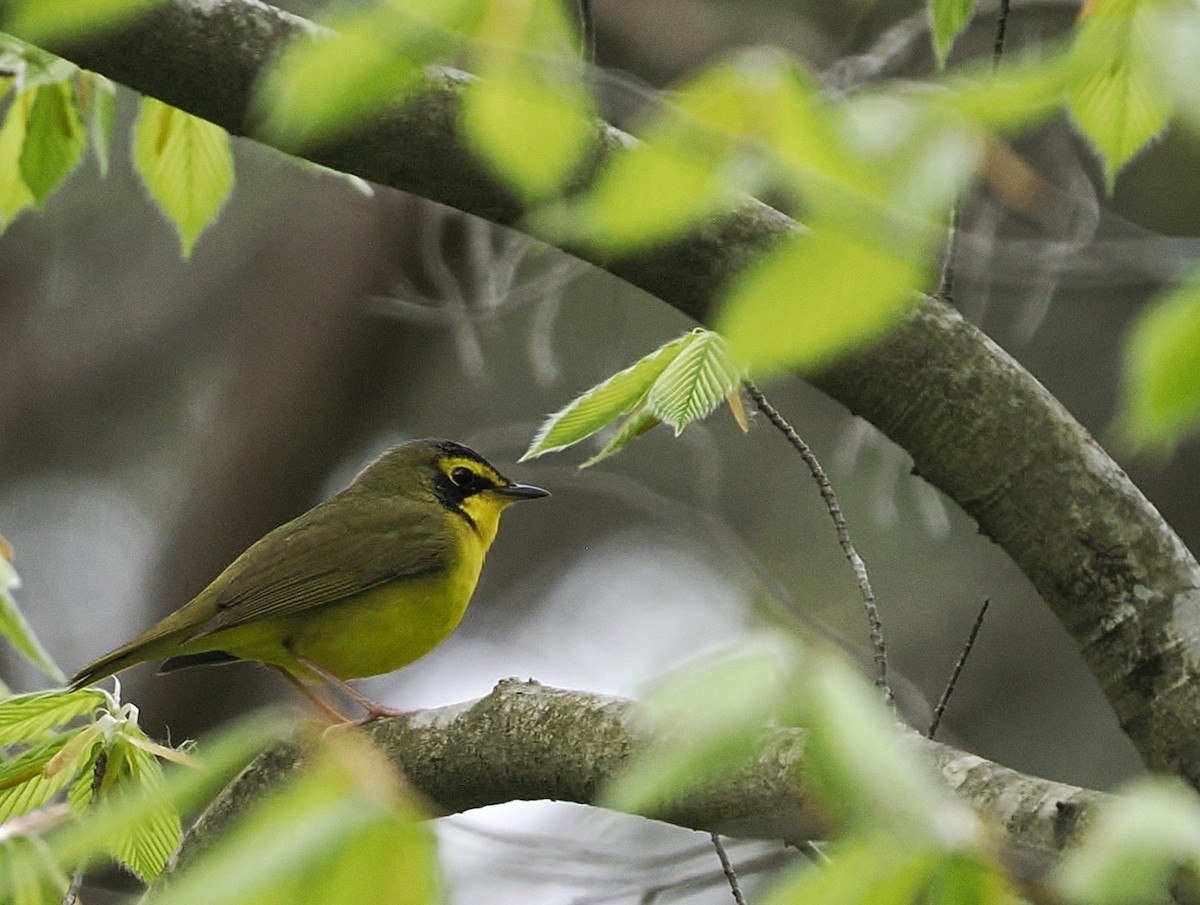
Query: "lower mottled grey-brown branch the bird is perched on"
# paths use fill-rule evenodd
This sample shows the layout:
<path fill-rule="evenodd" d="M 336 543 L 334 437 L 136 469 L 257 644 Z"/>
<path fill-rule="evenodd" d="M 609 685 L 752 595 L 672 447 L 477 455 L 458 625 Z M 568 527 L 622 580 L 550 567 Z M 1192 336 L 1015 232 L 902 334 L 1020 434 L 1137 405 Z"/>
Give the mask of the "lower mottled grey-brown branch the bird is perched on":
<path fill-rule="evenodd" d="M 336 730 L 335 730 L 336 731 Z M 510 801 L 589 804 L 650 741 L 631 701 L 506 679 L 478 701 L 372 724 L 388 757 L 443 814 Z M 803 841 L 823 823 L 804 786 L 798 729 L 764 731 L 757 762 L 696 791 L 658 819 L 743 838 Z M 1003 833 L 1030 871 L 1054 862 L 1106 796 L 1001 767 L 913 733 L 948 786 Z M 209 805 L 185 839 L 180 864 L 224 834 L 246 807 L 286 779 L 302 757 L 283 745 L 262 755 Z"/>

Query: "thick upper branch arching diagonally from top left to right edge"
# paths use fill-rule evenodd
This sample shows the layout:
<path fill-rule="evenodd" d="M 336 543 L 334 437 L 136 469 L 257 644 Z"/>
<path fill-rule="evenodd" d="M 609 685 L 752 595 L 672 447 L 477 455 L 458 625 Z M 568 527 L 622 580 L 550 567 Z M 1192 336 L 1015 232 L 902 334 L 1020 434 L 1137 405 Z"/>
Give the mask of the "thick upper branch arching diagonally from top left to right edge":
<path fill-rule="evenodd" d="M 0 29 L 11 29 L 7 18 L 0 0 Z M 288 37 L 312 28 L 257 0 L 167 0 L 119 31 L 47 49 L 254 137 L 254 79 Z M 460 138 L 464 78 L 432 77 L 403 110 L 307 156 L 518 223 L 517 203 Z M 580 180 L 623 140 L 598 130 Z M 670 246 L 620 259 L 569 251 L 706 320 L 728 276 L 794 228 L 746 200 Z M 1200 568 L 1070 415 L 936 302 L 812 380 L 907 449 L 917 471 L 1008 551 L 1075 639 L 1146 763 L 1200 786 Z"/>

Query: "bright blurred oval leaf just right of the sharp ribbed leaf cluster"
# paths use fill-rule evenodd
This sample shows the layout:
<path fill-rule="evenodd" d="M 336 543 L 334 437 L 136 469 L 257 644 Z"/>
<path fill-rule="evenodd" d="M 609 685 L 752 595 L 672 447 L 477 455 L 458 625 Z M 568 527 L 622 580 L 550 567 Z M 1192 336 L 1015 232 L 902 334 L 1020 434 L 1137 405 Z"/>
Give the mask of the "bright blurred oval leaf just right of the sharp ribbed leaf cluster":
<path fill-rule="evenodd" d="M 718 331 L 751 372 L 814 368 L 883 332 L 925 281 L 925 263 L 911 254 L 815 223 L 734 281 Z"/>

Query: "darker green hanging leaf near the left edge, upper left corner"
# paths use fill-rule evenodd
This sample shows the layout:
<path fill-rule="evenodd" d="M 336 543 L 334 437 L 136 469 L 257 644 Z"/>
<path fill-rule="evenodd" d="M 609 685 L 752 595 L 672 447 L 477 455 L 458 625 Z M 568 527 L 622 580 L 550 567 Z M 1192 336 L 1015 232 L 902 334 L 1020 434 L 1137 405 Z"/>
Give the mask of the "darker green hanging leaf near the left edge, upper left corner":
<path fill-rule="evenodd" d="M 74 169 L 86 136 L 68 82 L 40 85 L 25 124 L 20 175 L 41 206 Z"/>

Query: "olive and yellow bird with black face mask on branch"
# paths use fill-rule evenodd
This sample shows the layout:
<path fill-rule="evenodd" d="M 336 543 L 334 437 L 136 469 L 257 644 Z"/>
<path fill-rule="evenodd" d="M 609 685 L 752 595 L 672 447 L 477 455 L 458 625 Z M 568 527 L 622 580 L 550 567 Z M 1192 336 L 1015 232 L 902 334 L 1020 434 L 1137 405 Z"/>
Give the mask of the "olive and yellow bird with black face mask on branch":
<path fill-rule="evenodd" d="M 458 625 L 510 503 L 548 496 L 514 484 L 452 440 L 412 440 L 341 493 L 280 526 L 191 603 L 71 679 L 83 688 L 146 660 L 158 672 L 257 660 L 331 719 L 308 685 L 362 705 L 362 721 L 396 715 L 346 679 L 407 666 Z"/>

